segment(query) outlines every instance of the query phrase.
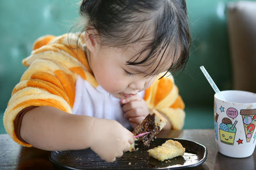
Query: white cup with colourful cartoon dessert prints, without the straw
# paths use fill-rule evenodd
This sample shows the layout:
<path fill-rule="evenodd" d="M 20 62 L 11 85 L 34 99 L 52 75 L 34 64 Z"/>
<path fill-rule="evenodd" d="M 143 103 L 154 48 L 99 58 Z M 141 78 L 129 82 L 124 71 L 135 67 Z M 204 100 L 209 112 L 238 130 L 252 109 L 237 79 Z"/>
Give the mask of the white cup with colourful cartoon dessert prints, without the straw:
<path fill-rule="evenodd" d="M 256 94 L 240 90 L 214 95 L 214 129 L 218 151 L 244 158 L 252 155 L 256 144 Z"/>

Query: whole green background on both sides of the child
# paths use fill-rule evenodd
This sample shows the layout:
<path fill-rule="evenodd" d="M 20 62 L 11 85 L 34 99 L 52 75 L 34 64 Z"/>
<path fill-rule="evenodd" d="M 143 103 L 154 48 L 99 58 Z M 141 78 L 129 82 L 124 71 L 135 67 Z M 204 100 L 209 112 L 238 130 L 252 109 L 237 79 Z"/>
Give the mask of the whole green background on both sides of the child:
<path fill-rule="evenodd" d="M 33 41 L 45 34 L 60 35 L 68 32 L 77 23 L 78 2 L 0 1 L 0 114 L 3 115 L 13 87 L 26 69 L 21 61 L 31 53 Z M 205 66 L 220 90 L 232 89 L 225 14 L 228 2 L 230 0 L 187 1 L 193 45 L 187 67 L 175 75 L 180 94 L 186 103 L 186 129 L 213 127 L 213 123 L 209 122 L 201 126 L 194 124 L 195 117 L 202 114 L 203 120 L 212 119 L 214 92 L 200 71 L 200 66 Z M 0 127 L 0 133 L 3 131 Z"/>

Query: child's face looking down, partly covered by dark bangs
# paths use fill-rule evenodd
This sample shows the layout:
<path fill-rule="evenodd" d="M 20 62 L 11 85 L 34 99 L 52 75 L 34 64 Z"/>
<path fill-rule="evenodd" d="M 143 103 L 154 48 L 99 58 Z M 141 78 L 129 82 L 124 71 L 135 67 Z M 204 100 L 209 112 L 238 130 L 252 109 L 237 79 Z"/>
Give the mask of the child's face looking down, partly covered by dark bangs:
<path fill-rule="evenodd" d="M 134 59 L 132 57 L 140 50 L 140 45 L 134 45 L 125 50 L 106 46 L 95 48 L 91 52 L 90 65 L 99 85 L 117 98 L 131 97 L 150 87 L 157 75 L 166 71 L 170 65 L 159 66 L 157 73 L 147 76 L 154 70 L 159 60 L 149 65 L 151 61 L 141 64 L 142 66 L 127 65 L 127 61 L 132 61 Z M 143 53 L 137 61 L 144 59 L 145 55 L 147 53 Z"/>

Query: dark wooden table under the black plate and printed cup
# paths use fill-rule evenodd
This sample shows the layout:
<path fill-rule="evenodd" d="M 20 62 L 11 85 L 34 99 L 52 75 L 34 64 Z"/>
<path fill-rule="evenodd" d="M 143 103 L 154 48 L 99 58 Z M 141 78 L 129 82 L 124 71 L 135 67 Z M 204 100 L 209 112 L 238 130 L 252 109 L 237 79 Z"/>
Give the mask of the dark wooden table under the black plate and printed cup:
<path fill-rule="evenodd" d="M 207 159 L 193 169 L 255 169 L 256 152 L 244 159 L 234 159 L 218 153 L 214 142 L 214 129 L 161 131 L 158 138 L 183 138 L 207 147 Z M 7 134 L 0 134 L 0 169 L 56 169 L 49 153 L 36 148 L 17 145 Z M 189 168 L 191 169 L 191 168 Z"/>

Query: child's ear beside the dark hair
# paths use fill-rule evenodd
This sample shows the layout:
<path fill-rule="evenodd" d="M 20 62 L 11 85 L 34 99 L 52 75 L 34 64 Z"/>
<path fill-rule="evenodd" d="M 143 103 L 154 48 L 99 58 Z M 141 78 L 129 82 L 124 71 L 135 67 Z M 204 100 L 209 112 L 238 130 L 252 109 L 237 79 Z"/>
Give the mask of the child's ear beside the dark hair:
<path fill-rule="evenodd" d="M 86 29 L 84 32 L 85 44 L 91 52 L 96 50 L 100 45 L 99 34 L 95 29 Z"/>

